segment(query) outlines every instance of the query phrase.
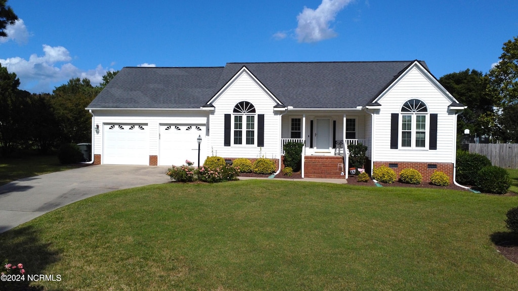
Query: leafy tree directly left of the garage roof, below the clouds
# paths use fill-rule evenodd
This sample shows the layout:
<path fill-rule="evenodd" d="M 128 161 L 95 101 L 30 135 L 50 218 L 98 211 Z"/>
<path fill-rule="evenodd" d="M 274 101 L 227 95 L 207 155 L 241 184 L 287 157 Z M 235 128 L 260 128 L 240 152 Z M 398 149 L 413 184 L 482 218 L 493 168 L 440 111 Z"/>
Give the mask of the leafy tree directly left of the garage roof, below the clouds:
<path fill-rule="evenodd" d="M 84 110 L 100 92 L 89 79 L 70 79 L 56 87 L 51 101 L 61 129 L 61 142 L 79 143 L 91 140 L 92 115 Z"/>

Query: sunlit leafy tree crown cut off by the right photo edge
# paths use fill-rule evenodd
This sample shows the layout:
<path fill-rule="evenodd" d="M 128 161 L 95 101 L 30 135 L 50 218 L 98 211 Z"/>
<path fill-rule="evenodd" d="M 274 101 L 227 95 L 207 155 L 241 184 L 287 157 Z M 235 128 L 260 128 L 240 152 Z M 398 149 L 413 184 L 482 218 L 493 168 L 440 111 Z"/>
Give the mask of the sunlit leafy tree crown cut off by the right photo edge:
<path fill-rule="evenodd" d="M 489 72 L 492 89 L 502 97 L 502 108 L 518 104 L 518 37 L 503 43 L 500 61 Z"/>

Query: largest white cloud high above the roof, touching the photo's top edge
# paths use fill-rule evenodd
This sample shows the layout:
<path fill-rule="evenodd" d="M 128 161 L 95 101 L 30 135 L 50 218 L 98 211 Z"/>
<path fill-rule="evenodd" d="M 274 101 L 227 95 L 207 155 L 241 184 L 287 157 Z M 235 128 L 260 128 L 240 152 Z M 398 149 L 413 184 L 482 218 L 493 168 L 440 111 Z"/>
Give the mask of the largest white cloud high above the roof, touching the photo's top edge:
<path fill-rule="evenodd" d="M 306 6 L 298 14 L 298 26 L 295 34 L 299 42 L 317 42 L 336 36 L 329 28 L 329 23 L 335 20 L 336 14 L 353 0 L 322 0 L 315 10 Z"/>

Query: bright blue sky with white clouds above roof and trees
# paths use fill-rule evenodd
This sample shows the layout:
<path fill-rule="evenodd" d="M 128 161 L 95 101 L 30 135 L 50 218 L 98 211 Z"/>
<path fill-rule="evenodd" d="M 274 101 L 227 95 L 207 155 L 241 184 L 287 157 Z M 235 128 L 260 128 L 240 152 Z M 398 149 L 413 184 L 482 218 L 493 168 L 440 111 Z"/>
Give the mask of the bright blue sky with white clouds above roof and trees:
<path fill-rule="evenodd" d="M 0 63 L 20 89 L 98 84 L 125 66 L 424 60 L 437 77 L 487 72 L 518 35 L 516 0 L 9 0 Z"/>

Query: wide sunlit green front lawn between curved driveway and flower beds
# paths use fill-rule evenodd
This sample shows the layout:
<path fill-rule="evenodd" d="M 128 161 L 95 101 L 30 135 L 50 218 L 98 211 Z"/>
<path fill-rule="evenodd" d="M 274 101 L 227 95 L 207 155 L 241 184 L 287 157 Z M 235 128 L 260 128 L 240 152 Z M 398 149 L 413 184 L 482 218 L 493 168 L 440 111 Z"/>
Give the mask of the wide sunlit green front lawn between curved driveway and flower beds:
<path fill-rule="evenodd" d="M 48 290 L 516 290 L 518 196 L 247 180 L 98 195 L 0 234 Z M 0 287 L 0 289 L 2 289 Z M 3 290 L 3 289 L 2 289 Z"/>

